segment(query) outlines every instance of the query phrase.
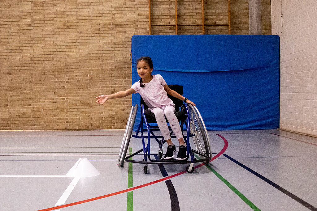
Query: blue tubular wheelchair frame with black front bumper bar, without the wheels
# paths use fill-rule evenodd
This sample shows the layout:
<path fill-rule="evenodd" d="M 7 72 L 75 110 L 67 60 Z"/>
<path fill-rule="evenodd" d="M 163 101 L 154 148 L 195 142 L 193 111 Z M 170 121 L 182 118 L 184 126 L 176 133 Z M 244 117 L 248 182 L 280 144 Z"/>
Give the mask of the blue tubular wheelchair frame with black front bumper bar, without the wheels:
<path fill-rule="evenodd" d="M 151 159 L 151 139 L 155 139 L 157 141 L 157 143 L 159 144 L 159 149 L 162 150 L 162 147 L 164 145 L 164 143 L 166 142 L 164 140 L 164 137 L 162 135 L 155 135 L 153 133 L 153 131 L 159 131 L 159 127 L 158 126 L 151 126 L 147 119 L 146 119 L 146 115 L 145 115 L 145 109 L 144 109 L 144 105 L 141 105 L 141 121 L 139 123 L 139 127 L 136 131 L 135 135 L 132 135 L 132 137 L 134 138 L 138 138 L 138 139 L 142 139 L 142 146 L 143 148 L 140 149 L 139 151 L 127 156 L 125 158 L 126 162 L 132 162 L 132 163 L 139 163 L 139 164 L 188 164 L 188 163 L 198 163 L 198 162 L 204 162 L 204 163 L 208 163 L 211 159 L 211 152 L 210 152 L 210 157 L 208 157 L 205 154 L 202 154 L 196 150 L 191 149 L 190 146 L 190 140 L 189 138 L 192 136 L 195 136 L 195 134 L 191 134 L 190 131 L 190 121 L 191 121 L 191 113 L 189 112 L 188 109 L 188 105 L 187 104 L 183 104 L 181 106 L 181 109 L 186 109 L 186 114 L 184 115 L 184 117 L 181 118 L 180 120 L 180 127 L 183 133 L 183 126 L 185 124 L 187 130 L 187 134 L 183 135 L 184 141 L 186 142 L 187 145 L 187 158 L 185 160 L 176 160 L 176 159 L 159 159 L 159 160 L 152 160 Z M 146 130 L 144 129 L 143 125 L 145 124 L 146 126 Z M 151 123 L 152 124 L 152 123 Z M 169 126 L 169 130 L 171 131 L 171 127 Z M 147 132 L 147 135 L 144 134 L 144 132 Z M 139 135 L 140 133 L 140 135 Z M 176 138 L 175 135 L 172 135 L 173 131 L 171 131 L 171 138 Z M 147 138 L 147 145 L 145 145 L 145 140 Z M 159 140 L 161 139 L 161 140 Z M 209 147 L 209 146 L 208 146 Z M 159 150 L 159 151 L 160 151 Z M 142 161 L 140 160 L 133 160 L 130 159 L 133 156 L 139 154 L 140 152 L 143 151 L 143 155 L 144 155 L 144 159 Z M 196 159 L 195 158 L 195 153 L 200 155 L 201 159 Z M 190 156 L 190 160 L 189 159 Z M 202 158 L 203 157 L 203 158 Z"/>

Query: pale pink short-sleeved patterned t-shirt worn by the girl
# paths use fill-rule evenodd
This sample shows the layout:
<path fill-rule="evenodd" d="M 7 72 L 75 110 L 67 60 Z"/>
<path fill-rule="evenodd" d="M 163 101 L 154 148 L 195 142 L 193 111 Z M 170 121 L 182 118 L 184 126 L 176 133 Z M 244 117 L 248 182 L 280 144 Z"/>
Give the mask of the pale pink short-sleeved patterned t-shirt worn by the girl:
<path fill-rule="evenodd" d="M 135 82 L 131 88 L 135 90 L 135 93 L 139 93 L 142 96 L 149 110 L 152 111 L 155 108 L 164 109 L 167 106 L 175 107 L 175 104 L 164 90 L 165 84 L 166 82 L 161 75 L 153 75 L 152 80 L 146 83 L 144 87 L 140 87 L 140 81 L 138 81 Z"/>

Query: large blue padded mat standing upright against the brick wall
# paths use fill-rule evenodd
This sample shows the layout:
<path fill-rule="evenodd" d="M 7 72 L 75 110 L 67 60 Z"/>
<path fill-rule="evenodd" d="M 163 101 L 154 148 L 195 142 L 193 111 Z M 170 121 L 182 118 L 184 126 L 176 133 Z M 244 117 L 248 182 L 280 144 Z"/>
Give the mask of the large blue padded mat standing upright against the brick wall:
<path fill-rule="evenodd" d="M 136 60 L 151 57 L 152 74 L 183 85 L 208 130 L 279 127 L 279 36 L 135 35 L 131 49 L 132 84 L 140 79 Z M 138 113 L 134 130 L 139 121 Z"/>

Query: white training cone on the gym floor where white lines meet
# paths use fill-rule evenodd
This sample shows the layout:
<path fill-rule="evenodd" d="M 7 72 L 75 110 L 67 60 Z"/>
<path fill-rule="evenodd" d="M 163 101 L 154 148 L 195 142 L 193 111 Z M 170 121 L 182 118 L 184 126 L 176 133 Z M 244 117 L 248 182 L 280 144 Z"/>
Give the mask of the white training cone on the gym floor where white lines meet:
<path fill-rule="evenodd" d="M 75 165 L 67 172 L 68 177 L 94 177 L 100 172 L 89 162 L 87 158 L 79 158 Z"/>

